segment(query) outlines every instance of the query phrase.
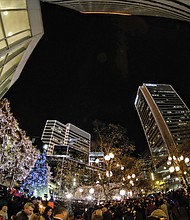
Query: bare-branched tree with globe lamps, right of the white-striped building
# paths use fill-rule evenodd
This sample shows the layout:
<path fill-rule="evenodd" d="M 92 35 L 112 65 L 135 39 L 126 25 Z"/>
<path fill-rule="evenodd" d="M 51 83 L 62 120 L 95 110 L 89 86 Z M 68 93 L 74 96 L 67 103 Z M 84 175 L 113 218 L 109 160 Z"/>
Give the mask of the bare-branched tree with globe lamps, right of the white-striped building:
<path fill-rule="evenodd" d="M 133 180 L 131 175 L 140 169 L 137 159 L 132 156 L 135 145 L 128 138 L 126 128 L 99 121 L 94 122 L 93 145 L 92 151 L 104 154 L 104 159 L 94 165 L 103 167 L 97 172 L 96 181 L 109 200 L 116 189 L 134 185 L 136 175 L 133 175 Z"/>

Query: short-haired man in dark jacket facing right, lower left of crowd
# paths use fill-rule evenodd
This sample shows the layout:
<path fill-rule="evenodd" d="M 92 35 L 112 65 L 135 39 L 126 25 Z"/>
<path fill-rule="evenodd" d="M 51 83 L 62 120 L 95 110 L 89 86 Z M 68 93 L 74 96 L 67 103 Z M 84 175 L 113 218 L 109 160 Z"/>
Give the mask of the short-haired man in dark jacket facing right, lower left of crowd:
<path fill-rule="evenodd" d="M 33 214 L 34 208 L 35 206 L 32 202 L 25 203 L 23 210 L 16 214 L 15 220 L 29 220 L 29 217 Z"/>

